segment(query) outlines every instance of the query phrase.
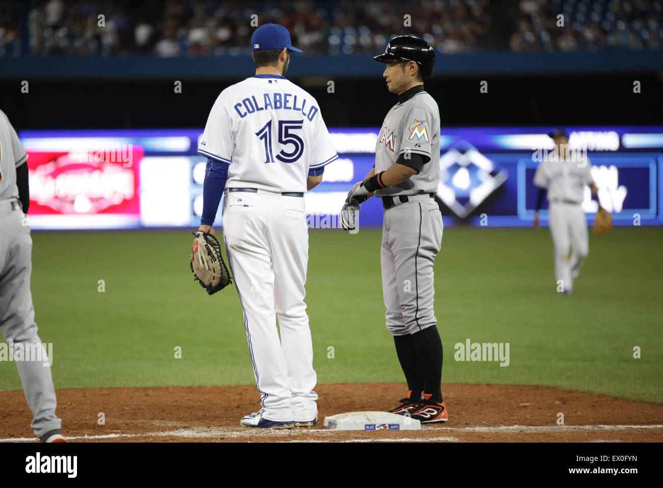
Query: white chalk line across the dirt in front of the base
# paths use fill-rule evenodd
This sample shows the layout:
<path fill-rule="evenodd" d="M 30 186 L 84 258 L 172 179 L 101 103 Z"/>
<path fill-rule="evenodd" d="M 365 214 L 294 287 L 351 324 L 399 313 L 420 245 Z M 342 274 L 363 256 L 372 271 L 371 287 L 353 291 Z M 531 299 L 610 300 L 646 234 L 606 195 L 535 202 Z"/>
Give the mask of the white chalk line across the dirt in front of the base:
<path fill-rule="evenodd" d="M 637 425 L 623 425 L 623 426 L 497 426 L 497 427 L 442 427 L 442 426 L 426 426 L 418 432 L 425 432 L 426 430 L 436 430 L 446 431 L 448 434 L 454 434 L 456 432 L 494 432 L 494 433 L 510 433 L 510 432 L 568 432 L 575 430 L 591 430 L 591 431 L 617 431 L 617 430 L 629 430 L 629 429 L 663 429 L 663 425 L 649 425 L 649 426 L 637 426 Z M 178 429 L 178 430 L 164 430 L 160 432 L 145 432 L 143 434 L 101 434 L 97 436 L 66 436 L 68 440 L 76 441 L 86 441 L 86 440 L 104 440 L 104 439 L 117 439 L 117 438 L 146 438 L 146 437 L 174 437 L 174 438 L 216 438 L 223 437 L 225 438 L 234 438 L 241 439 L 247 437 L 253 437 L 256 435 L 263 436 L 290 436 L 293 439 L 290 440 L 280 440 L 281 442 L 316 442 L 315 440 L 300 440 L 296 439 L 299 435 L 302 434 L 318 434 L 324 437 L 335 436 L 337 432 L 353 432 L 350 430 L 339 431 L 331 429 L 293 429 L 293 430 L 280 430 L 280 429 L 241 429 L 241 428 L 195 428 L 195 429 Z M 354 431 L 358 432 L 358 431 Z M 381 431 L 385 432 L 385 431 Z M 402 431 L 401 431 L 402 432 Z M 417 432 L 417 431 L 414 431 Z M 66 434 L 66 433 L 65 433 Z M 370 434 L 368 434 L 370 435 Z M 439 438 L 378 438 L 371 439 L 370 437 L 365 437 L 362 439 L 349 439 L 343 440 L 342 442 L 433 442 L 433 441 L 446 441 L 446 442 L 457 442 L 458 439 L 454 437 L 439 437 Z M 9 439 L 0 439 L 0 442 L 35 442 L 35 438 L 9 438 Z M 322 441 L 321 441 L 322 442 Z"/>

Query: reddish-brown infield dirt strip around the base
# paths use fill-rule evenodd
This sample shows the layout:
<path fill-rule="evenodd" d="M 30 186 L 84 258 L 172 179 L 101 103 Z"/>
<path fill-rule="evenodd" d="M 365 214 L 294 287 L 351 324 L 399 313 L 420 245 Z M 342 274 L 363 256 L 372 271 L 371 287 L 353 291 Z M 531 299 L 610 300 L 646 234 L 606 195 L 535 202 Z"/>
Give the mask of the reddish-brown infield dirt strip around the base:
<path fill-rule="evenodd" d="M 251 430 L 253 386 L 170 386 L 58 390 L 63 432 L 74 442 L 662 442 L 663 406 L 543 386 L 446 384 L 449 422 L 412 432 L 336 432 L 325 416 L 387 410 L 402 384 L 321 384 L 314 428 Z M 0 439 L 33 438 L 21 391 L 0 392 Z M 564 414 L 564 425 L 558 414 Z M 103 414 L 105 424 L 99 424 Z"/>

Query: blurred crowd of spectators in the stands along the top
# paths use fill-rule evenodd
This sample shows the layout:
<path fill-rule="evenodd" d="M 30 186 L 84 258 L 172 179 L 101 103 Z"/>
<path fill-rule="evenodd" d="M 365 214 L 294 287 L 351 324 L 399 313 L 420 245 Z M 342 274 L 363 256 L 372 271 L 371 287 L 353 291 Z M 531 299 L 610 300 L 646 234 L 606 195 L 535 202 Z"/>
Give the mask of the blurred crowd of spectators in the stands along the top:
<path fill-rule="evenodd" d="M 494 15 L 505 5 L 516 18 Z M 661 19 L 660 0 L 3 0 L 0 56 L 240 55 L 267 22 L 305 54 L 374 54 L 402 34 L 451 54 L 659 48 Z"/>

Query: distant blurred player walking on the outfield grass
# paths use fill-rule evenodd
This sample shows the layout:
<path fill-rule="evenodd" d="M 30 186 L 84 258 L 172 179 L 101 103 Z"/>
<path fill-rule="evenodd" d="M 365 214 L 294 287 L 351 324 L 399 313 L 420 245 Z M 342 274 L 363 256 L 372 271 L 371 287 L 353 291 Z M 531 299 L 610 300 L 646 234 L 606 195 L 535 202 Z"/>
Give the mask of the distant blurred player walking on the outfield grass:
<path fill-rule="evenodd" d="M 539 163 L 534 173 L 534 185 L 540 188 L 536 199 L 534 226 L 538 227 L 538 210 L 548 189 L 550 234 L 555 249 L 555 279 L 557 291 L 570 295 L 573 280 L 589 254 L 587 220 L 582 209 L 585 185 L 593 196 L 597 188 L 591 177 L 591 163 L 584 153 L 569 149 L 566 130 L 558 127 L 548 134 L 555 141 L 555 149 Z"/>

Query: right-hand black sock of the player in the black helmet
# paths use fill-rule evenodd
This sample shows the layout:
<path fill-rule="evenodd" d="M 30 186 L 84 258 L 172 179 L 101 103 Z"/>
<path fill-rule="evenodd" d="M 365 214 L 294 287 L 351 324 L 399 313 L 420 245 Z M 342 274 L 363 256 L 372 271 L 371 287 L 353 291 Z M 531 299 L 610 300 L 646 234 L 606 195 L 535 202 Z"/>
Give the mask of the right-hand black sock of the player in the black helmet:
<path fill-rule="evenodd" d="M 431 394 L 430 400 L 442 402 L 442 339 L 438 327 L 432 325 L 412 334 L 412 343 L 419 363 L 420 378 L 424 393 Z"/>

